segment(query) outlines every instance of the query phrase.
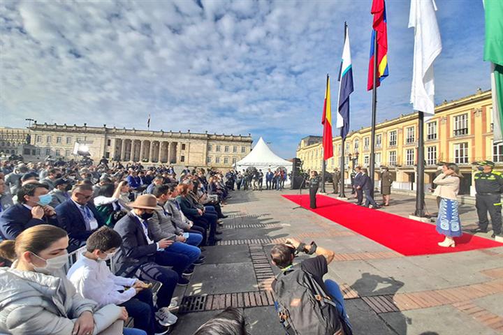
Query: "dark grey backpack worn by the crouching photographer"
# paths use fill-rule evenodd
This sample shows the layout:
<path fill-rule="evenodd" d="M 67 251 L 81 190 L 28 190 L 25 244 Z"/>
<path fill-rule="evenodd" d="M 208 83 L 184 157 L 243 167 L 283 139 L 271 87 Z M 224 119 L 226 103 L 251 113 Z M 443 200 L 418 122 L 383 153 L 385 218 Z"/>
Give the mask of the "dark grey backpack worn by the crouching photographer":
<path fill-rule="evenodd" d="M 341 329 L 352 334 L 337 304 L 300 265 L 282 271 L 276 280 L 276 308 L 286 334 L 333 335 Z"/>

